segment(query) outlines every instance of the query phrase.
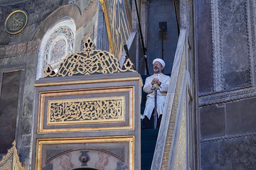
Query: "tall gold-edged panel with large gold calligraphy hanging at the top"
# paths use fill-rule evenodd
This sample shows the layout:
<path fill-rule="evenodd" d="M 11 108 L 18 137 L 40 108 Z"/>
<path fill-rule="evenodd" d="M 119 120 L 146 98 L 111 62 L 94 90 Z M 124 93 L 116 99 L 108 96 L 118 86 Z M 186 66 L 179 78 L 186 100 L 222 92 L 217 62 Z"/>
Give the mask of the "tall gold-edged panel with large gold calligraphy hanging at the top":
<path fill-rule="evenodd" d="M 130 4 L 126 0 L 100 0 L 108 30 L 109 51 L 120 58 L 130 32 Z"/>

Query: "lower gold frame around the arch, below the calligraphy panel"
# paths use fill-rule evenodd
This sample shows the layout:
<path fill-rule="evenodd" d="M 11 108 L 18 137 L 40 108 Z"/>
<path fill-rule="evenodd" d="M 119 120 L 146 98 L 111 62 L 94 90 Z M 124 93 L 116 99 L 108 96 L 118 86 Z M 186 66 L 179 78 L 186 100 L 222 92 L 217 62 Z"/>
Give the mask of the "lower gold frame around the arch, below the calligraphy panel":
<path fill-rule="evenodd" d="M 107 136 L 84 138 L 44 138 L 36 140 L 36 170 L 42 169 L 43 145 L 53 144 L 80 144 L 80 143 L 129 143 L 129 169 L 134 169 L 134 136 Z"/>

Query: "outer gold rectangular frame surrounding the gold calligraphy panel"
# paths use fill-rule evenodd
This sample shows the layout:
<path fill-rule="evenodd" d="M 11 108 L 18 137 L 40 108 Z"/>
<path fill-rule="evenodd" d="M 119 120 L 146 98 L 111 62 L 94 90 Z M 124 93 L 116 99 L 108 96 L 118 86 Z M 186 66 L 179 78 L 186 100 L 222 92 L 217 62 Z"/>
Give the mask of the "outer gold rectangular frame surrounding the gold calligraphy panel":
<path fill-rule="evenodd" d="M 128 116 L 129 124 L 127 126 L 115 126 L 115 127 L 90 127 L 90 128 L 55 128 L 55 129 L 44 129 L 44 104 L 46 97 L 56 96 L 74 96 L 74 95 L 88 95 L 88 94 L 115 94 L 118 92 L 128 92 Z M 134 86 L 120 86 L 120 87 L 107 87 L 107 88 L 92 88 L 92 89 L 71 89 L 71 90 L 56 90 L 56 91 L 42 91 L 39 92 L 38 101 L 38 120 L 37 120 L 37 133 L 65 133 L 65 132 L 79 132 L 79 131 L 124 131 L 134 130 Z M 103 124 L 105 122 L 99 122 Z M 116 123 L 116 121 L 108 122 Z M 76 123 L 85 124 L 85 123 Z M 86 123 L 88 124 L 88 123 Z M 95 122 L 90 123 L 95 124 Z M 68 124 L 59 124 L 68 125 Z"/>

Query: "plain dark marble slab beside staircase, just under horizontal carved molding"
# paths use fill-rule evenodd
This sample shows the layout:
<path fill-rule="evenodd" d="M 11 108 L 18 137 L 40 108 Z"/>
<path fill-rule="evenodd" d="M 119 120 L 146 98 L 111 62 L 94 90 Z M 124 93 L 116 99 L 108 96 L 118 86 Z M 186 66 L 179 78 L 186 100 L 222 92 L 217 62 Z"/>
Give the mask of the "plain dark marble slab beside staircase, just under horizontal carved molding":
<path fill-rule="evenodd" d="M 201 107 L 199 110 L 201 140 L 226 135 L 224 105 L 215 104 Z"/>

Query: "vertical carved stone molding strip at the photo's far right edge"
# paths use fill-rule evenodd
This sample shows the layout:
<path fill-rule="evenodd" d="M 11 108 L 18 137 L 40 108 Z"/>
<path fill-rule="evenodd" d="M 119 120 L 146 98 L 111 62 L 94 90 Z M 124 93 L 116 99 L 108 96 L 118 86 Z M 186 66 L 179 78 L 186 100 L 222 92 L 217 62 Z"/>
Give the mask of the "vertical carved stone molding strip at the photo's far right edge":
<path fill-rule="evenodd" d="M 248 44 L 250 53 L 251 64 L 251 85 L 256 84 L 256 13 L 255 13 L 255 0 L 246 0 L 246 13 L 247 13 L 247 32 L 248 32 Z"/>

